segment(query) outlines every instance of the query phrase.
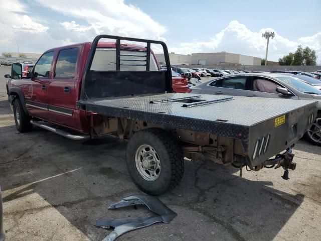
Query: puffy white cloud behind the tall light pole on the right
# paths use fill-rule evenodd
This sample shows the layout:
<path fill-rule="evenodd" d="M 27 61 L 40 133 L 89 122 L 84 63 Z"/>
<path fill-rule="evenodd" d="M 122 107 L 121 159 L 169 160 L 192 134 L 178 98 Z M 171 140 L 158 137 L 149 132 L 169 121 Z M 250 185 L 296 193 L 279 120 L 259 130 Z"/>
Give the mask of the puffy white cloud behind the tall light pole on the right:
<path fill-rule="evenodd" d="M 275 37 L 269 41 L 268 59 L 270 60 L 277 61 L 289 52 L 294 52 L 299 44 L 309 46 L 316 51 L 318 56 L 321 56 L 321 33 L 291 41 L 280 36 L 276 30 L 271 28 L 252 32 L 238 21 L 231 21 L 225 29 L 208 42 L 185 42 L 169 50 L 178 54 L 226 51 L 263 58 L 265 57 L 266 39 L 262 37 L 262 34 L 265 31 L 275 33 Z"/>

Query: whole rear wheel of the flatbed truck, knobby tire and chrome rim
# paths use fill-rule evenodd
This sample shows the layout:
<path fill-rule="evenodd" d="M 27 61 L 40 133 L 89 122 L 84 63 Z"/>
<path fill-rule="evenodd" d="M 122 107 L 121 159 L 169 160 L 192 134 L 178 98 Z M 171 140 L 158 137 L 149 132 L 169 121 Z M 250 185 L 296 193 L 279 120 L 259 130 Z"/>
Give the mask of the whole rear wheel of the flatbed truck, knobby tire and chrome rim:
<path fill-rule="evenodd" d="M 158 128 L 139 131 L 129 139 L 126 163 L 136 186 L 151 195 L 175 188 L 184 174 L 184 157 L 177 140 Z"/>

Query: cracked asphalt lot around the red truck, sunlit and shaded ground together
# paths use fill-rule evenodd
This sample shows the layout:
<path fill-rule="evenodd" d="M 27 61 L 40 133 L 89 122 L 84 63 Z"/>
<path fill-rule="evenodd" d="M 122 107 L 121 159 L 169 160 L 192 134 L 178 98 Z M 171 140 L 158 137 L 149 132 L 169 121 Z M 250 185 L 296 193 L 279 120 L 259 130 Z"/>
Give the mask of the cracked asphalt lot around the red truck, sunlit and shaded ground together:
<path fill-rule="evenodd" d="M 98 218 L 147 213 L 143 207 L 108 210 L 141 193 L 125 164 L 126 143 L 114 138 L 75 142 L 36 129 L 20 134 L 6 94 L 10 67 L 0 67 L 0 185 L 7 238 L 102 240 Z M 210 78 L 205 78 L 210 79 Z M 300 140 L 295 171 L 259 172 L 186 161 L 181 184 L 159 198 L 177 217 L 117 240 L 321 240 L 321 148 Z"/>

